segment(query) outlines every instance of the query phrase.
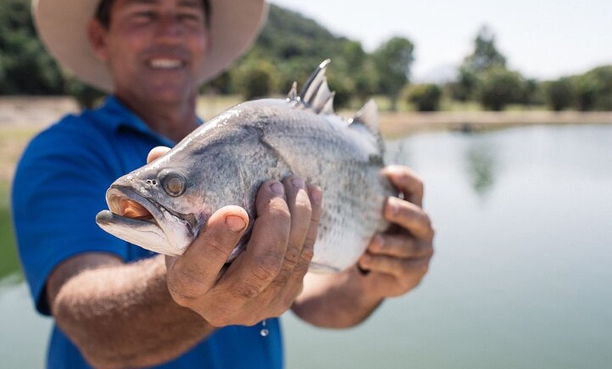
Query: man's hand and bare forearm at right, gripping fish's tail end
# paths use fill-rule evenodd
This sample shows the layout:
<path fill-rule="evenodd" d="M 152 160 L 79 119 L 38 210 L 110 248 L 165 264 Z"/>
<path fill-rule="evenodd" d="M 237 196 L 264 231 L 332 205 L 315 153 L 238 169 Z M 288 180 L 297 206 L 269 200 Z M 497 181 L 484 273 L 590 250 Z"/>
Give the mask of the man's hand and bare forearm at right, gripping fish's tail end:
<path fill-rule="evenodd" d="M 433 255 L 433 227 L 423 211 L 423 182 L 412 170 L 393 165 L 383 173 L 400 197 L 390 197 L 383 215 L 392 225 L 376 234 L 357 267 L 332 275 L 305 277 L 293 312 L 321 327 L 361 323 L 386 297 L 409 292 L 421 282 Z"/>

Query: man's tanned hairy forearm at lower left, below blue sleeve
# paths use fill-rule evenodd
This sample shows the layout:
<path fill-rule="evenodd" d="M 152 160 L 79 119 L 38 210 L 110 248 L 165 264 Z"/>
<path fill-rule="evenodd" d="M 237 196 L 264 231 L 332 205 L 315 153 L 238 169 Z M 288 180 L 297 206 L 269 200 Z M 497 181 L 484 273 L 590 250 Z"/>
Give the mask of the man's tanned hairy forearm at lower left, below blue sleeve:
<path fill-rule="evenodd" d="M 77 256 L 49 279 L 51 311 L 96 367 L 162 363 L 215 329 L 174 303 L 165 273 L 162 256 L 127 265 L 108 255 Z M 63 278 L 67 274 L 71 276 Z"/>

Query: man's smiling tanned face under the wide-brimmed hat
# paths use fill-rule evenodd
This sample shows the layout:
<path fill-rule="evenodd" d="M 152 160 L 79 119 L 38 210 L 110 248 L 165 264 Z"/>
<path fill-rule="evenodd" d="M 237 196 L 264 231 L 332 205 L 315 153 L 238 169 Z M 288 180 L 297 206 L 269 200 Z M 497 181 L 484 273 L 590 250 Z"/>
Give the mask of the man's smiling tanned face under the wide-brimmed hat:
<path fill-rule="evenodd" d="M 208 49 L 201 0 L 115 0 L 101 32 L 94 49 L 117 96 L 159 103 L 195 96 Z"/>

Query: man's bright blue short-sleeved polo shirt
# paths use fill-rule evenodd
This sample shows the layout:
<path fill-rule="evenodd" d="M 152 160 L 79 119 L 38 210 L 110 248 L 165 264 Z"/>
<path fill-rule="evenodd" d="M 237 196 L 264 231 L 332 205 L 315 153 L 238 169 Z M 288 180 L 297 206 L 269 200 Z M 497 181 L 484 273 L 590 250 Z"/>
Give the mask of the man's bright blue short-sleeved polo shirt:
<path fill-rule="evenodd" d="M 49 315 L 45 284 L 51 270 L 71 256 L 108 252 L 126 262 L 153 253 L 117 239 L 96 225 L 107 208 L 106 189 L 144 165 L 154 146 L 174 146 L 115 97 L 80 115 L 65 116 L 27 146 L 13 182 L 12 211 L 18 249 L 36 308 Z M 282 368 L 278 319 L 262 326 L 232 326 L 159 368 Z M 89 368 L 77 348 L 53 327 L 48 368 Z"/>

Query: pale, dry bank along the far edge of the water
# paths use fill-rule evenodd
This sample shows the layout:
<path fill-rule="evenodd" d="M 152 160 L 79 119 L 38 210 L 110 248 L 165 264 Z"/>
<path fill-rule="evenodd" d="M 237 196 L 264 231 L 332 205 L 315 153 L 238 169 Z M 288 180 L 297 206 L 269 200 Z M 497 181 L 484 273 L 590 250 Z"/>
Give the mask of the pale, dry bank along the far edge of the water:
<path fill-rule="evenodd" d="M 231 96 L 200 96 L 198 114 L 205 119 L 236 104 Z M 0 180 L 11 180 L 21 152 L 31 137 L 63 115 L 78 113 L 70 96 L 0 96 Z M 354 111 L 340 111 L 351 117 Z M 393 139 L 419 132 L 454 130 L 474 132 L 519 125 L 612 124 L 612 111 L 440 111 L 381 112 L 383 137 Z"/>

